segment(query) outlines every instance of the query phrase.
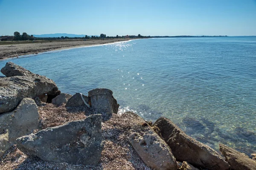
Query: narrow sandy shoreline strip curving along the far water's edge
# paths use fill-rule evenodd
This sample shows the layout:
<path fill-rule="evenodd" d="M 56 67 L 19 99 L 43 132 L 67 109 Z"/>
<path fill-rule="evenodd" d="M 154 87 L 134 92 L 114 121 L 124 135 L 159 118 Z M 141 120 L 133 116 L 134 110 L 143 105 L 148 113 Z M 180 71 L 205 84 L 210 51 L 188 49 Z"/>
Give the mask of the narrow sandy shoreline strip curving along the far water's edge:
<path fill-rule="evenodd" d="M 118 42 L 125 42 L 129 40 L 137 40 L 134 38 L 127 39 L 97 39 L 97 40 L 76 40 L 76 41 L 50 41 L 50 42 L 35 42 L 35 43 L 20 43 L 13 45 L 0 45 L 0 61 L 15 59 L 20 57 L 30 57 L 27 55 L 37 55 L 39 53 L 48 51 L 58 51 L 73 48 L 82 48 L 98 45 L 113 44 Z"/>

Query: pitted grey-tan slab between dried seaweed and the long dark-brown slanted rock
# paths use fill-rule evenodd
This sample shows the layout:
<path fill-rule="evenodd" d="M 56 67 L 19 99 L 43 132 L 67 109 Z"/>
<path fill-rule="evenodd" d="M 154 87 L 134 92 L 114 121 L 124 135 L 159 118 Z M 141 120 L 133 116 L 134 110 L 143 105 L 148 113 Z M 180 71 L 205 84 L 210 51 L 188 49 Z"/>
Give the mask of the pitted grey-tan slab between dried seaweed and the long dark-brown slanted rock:
<path fill-rule="evenodd" d="M 134 114 L 133 122 L 129 142 L 145 164 L 155 170 L 177 170 L 175 157 L 163 139 L 140 116 Z"/>

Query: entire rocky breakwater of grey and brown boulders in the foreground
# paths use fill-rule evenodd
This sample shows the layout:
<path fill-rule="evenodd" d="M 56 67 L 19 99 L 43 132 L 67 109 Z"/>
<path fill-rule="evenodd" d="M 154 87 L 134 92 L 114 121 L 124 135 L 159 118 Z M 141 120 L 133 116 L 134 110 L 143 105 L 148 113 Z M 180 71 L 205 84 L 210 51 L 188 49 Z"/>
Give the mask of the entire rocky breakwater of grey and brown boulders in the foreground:
<path fill-rule="evenodd" d="M 33 74 L 12 62 L 8 62 L 1 71 L 7 76 L 0 78 L 1 162 L 4 162 L 1 157 L 4 157 L 6 151 L 16 142 L 17 148 L 31 158 L 30 160 L 38 157 L 40 161 L 76 166 L 90 165 L 93 166 L 92 169 L 108 167 L 107 169 L 113 170 L 255 170 L 256 168 L 254 160 L 220 144 L 220 151 L 226 158 L 224 160 L 215 150 L 186 135 L 167 118 L 161 117 L 152 125 L 152 122 L 146 122 L 132 112 L 118 114 L 119 105 L 109 89 L 96 88 L 89 91 L 88 96 L 81 93 L 73 96 L 58 95 L 60 91 L 52 80 Z M 58 96 L 52 99 L 48 94 Z M 73 112 L 65 115 L 70 116 L 71 120 L 55 127 L 40 127 L 39 122 L 42 117 L 38 107 L 42 106 L 36 105 L 34 101 L 35 98 L 38 101 L 38 96 L 44 96 L 39 97 L 42 99 L 39 100 L 41 104 L 52 101 L 50 107 L 61 108 L 58 113 L 71 109 Z M 79 107 L 86 107 L 90 116 L 86 117 L 82 112 L 82 119 L 72 120 Z M 53 114 L 58 117 L 61 115 L 58 113 Z M 36 159 L 34 162 L 38 165 Z M 128 166 L 118 167 L 119 164 Z M 47 168 L 42 167 L 42 169 Z"/>

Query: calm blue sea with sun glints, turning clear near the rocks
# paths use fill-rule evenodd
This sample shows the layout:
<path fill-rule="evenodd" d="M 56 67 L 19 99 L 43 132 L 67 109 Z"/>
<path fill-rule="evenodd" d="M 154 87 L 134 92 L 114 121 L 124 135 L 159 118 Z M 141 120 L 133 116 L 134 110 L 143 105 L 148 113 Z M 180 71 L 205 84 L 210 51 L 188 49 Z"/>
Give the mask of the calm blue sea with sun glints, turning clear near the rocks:
<path fill-rule="evenodd" d="M 215 150 L 256 152 L 256 37 L 132 40 L 11 61 L 65 93 L 109 88 L 120 112 L 166 116 Z"/>

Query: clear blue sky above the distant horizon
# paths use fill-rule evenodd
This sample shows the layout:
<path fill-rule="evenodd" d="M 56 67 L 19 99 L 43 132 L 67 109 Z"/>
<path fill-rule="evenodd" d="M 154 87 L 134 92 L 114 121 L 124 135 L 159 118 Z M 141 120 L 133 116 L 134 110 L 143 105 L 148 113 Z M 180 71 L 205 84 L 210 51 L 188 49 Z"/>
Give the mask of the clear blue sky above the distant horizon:
<path fill-rule="evenodd" d="M 256 0 L 0 0 L 0 35 L 256 35 Z"/>

